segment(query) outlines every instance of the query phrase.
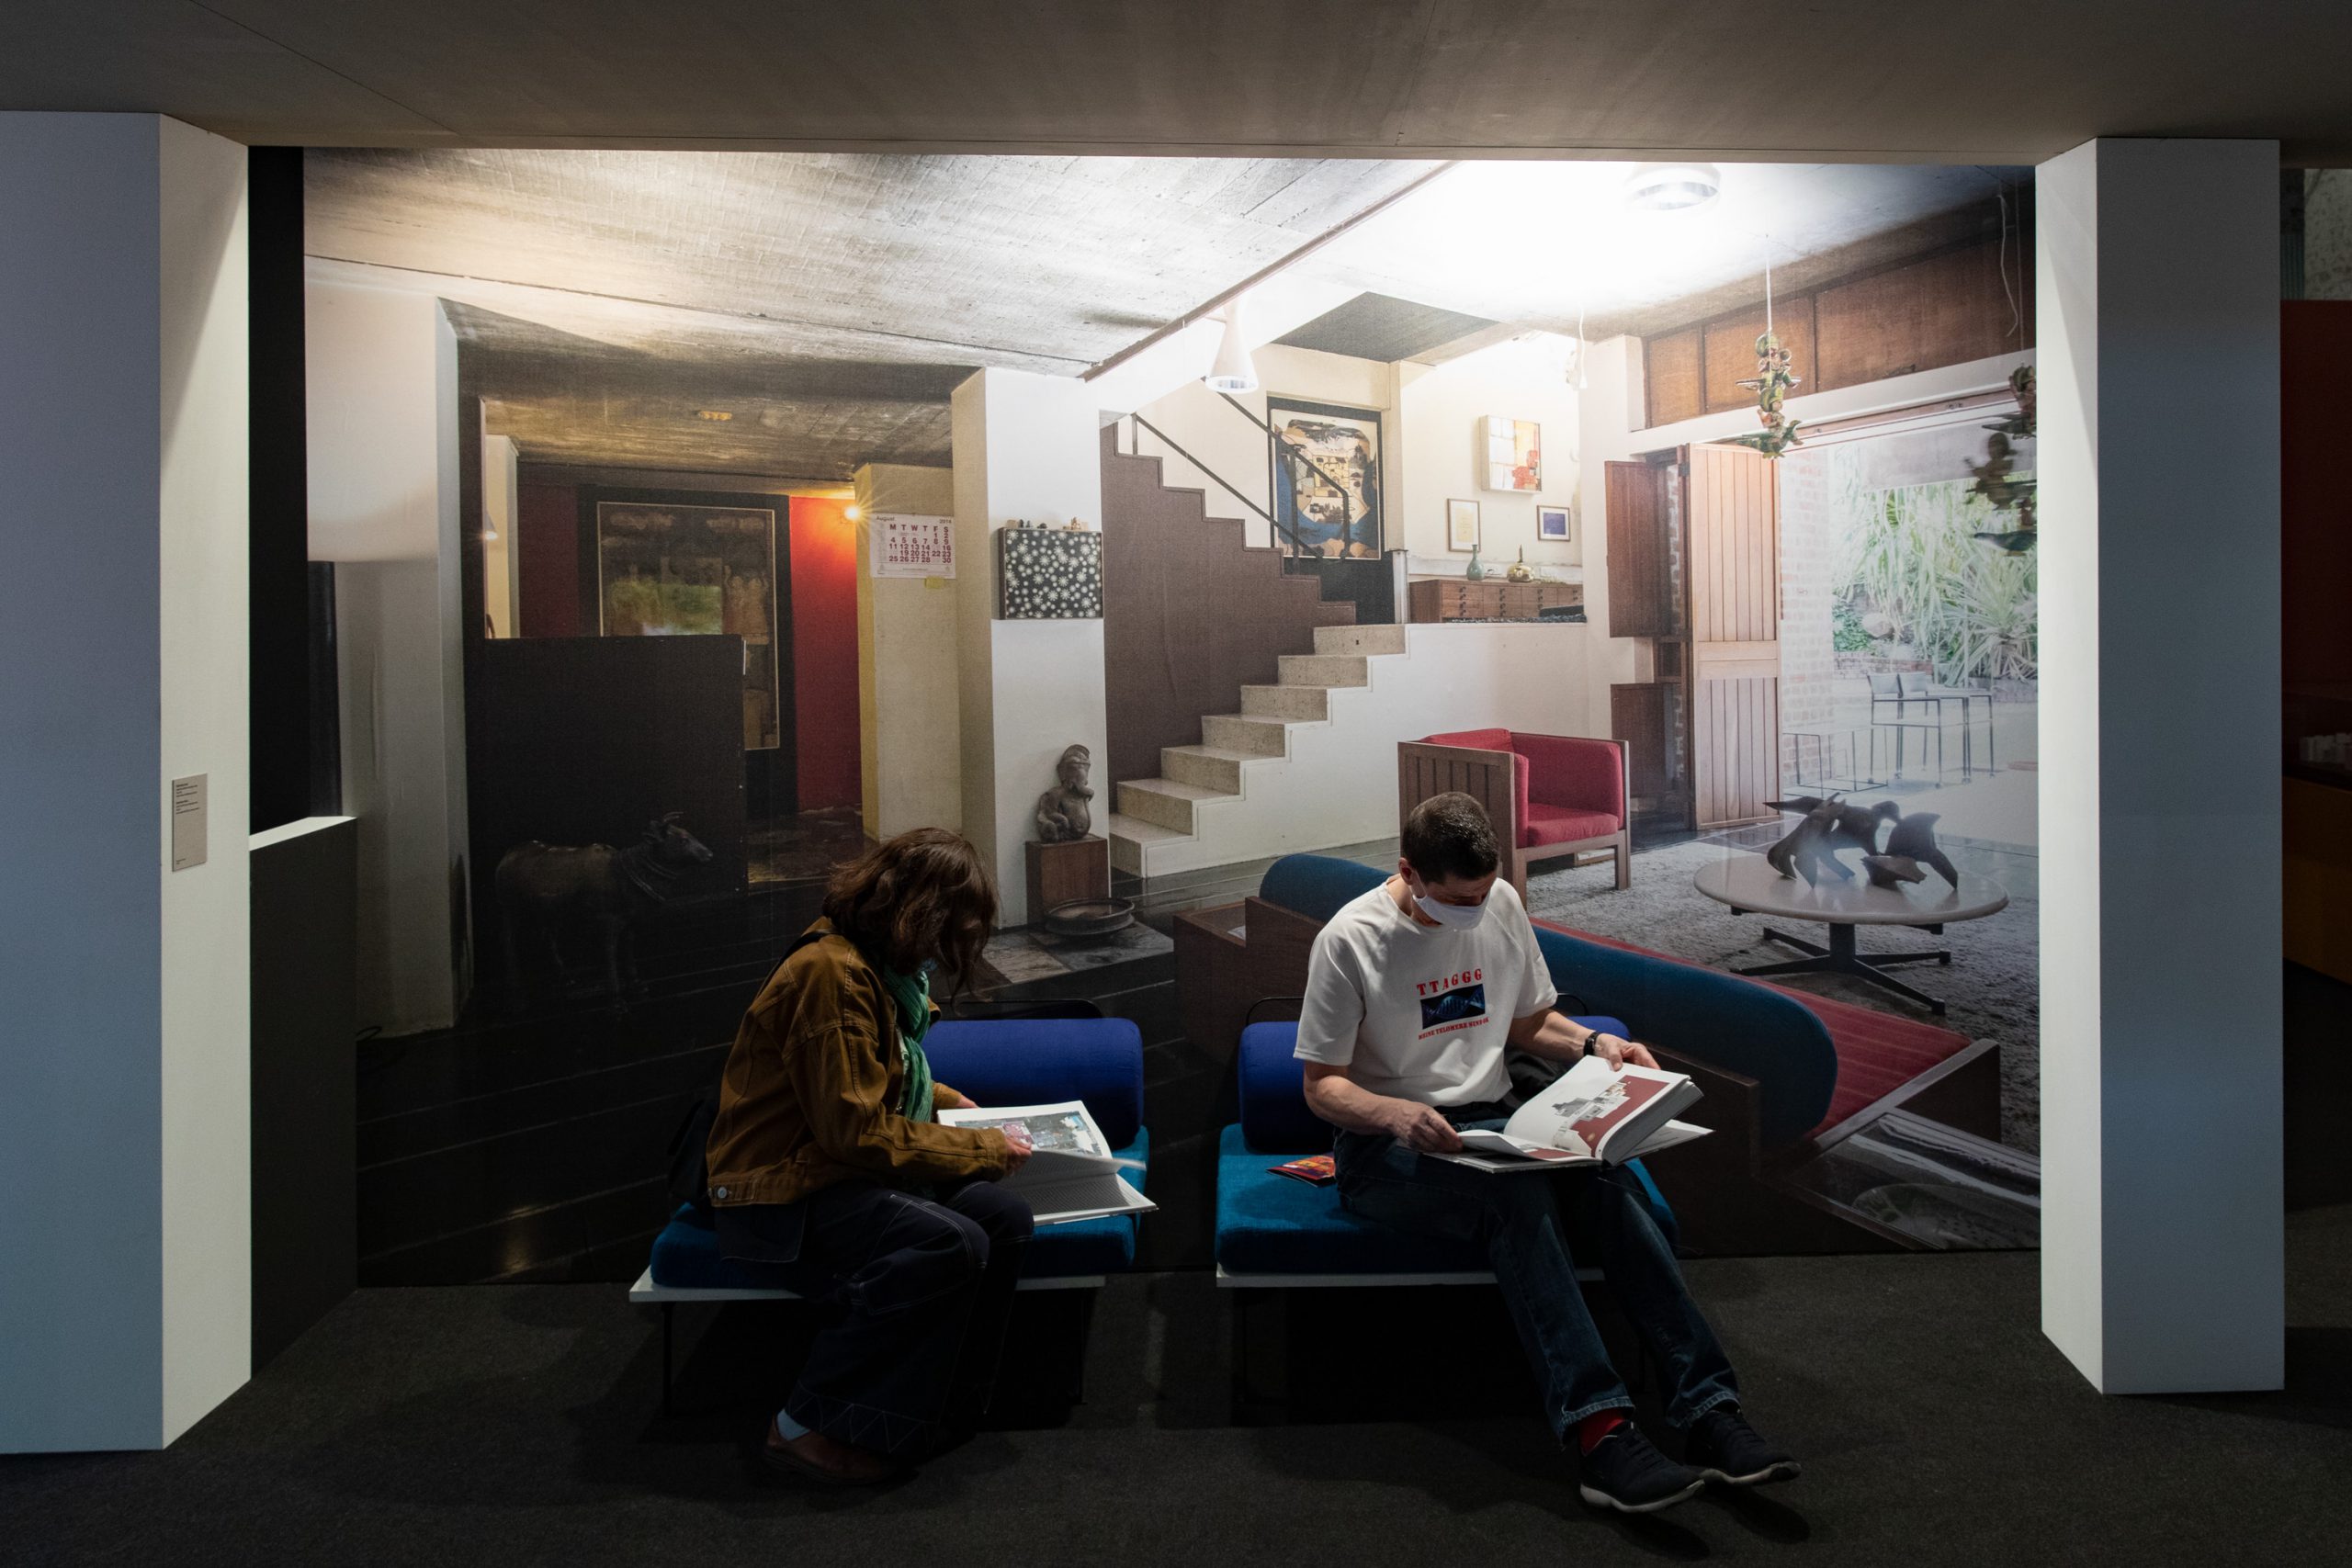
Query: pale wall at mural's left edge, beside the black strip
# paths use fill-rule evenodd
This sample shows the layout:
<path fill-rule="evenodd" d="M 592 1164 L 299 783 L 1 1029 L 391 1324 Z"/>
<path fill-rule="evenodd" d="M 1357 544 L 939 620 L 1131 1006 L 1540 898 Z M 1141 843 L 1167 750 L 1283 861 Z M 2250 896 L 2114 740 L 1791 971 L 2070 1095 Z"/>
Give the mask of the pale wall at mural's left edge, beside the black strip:
<path fill-rule="evenodd" d="M 456 331 L 430 294 L 313 266 L 310 559 L 334 562 L 343 811 L 360 818 L 360 1023 L 466 999 Z"/>

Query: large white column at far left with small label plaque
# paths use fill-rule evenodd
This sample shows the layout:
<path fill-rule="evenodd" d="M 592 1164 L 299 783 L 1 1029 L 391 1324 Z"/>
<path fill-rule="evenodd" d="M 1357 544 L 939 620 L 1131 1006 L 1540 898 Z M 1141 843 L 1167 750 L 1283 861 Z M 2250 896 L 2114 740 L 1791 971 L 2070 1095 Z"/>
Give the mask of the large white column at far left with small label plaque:
<path fill-rule="evenodd" d="M 252 1361 L 245 148 L 0 113 L 0 1450 L 158 1448 Z"/>

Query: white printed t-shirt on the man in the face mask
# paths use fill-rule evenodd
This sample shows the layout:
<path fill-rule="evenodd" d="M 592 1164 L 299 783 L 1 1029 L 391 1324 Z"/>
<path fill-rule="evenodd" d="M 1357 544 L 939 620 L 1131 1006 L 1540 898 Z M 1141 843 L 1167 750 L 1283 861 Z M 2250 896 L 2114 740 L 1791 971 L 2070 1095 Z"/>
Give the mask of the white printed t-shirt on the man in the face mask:
<path fill-rule="evenodd" d="M 1508 882 L 1496 879 L 1470 931 L 1423 926 L 1381 884 L 1315 938 L 1296 1056 L 1345 1067 L 1359 1088 L 1399 1100 L 1501 1100 L 1510 1020 L 1557 999 Z"/>

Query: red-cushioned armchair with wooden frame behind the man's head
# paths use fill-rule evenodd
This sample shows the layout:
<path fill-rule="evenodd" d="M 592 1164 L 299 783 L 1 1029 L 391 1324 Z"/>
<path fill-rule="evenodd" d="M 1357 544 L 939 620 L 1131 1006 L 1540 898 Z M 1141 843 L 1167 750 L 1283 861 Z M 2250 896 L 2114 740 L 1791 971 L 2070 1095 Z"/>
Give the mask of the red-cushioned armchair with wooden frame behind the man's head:
<path fill-rule="evenodd" d="M 1432 795 L 1461 790 L 1486 806 L 1510 886 L 1526 898 L 1529 860 L 1616 851 L 1632 886 L 1625 823 L 1625 743 L 1465 729 L 1397 743 L 1397 823 Z"/>

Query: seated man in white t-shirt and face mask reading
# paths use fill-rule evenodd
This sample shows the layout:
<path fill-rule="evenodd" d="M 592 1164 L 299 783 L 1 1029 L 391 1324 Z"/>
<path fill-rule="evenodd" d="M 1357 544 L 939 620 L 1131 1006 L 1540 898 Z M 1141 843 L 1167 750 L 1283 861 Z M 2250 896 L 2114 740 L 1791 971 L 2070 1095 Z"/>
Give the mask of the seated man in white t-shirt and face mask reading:
<path fill-rule="evenodd" d="M 1646 1514 L 1708 1481 L 1785 1481 L 1797 1462 L 1740 1415 L 1738 1382 L 1691 1302 L 1637 1173 L 1581 1166 L 1494 1175 L 1430 1154 L 1461 1150 L 1458 1128 L 1501 1128 L 1519 1103 L 1505 1053 L 1566 1067 L 1656 1067 L 1651 1053 L 1552 1011 L 1557 992 L 1536 929 L 1496 877 L 1494 825 L 1468 795 L 1439 795 L 1404 820 L 1397 875 L 1345 905 L 1315 940 L 1298 1016 L 1298 1058 L 1315 1114 L 1338 1128 L 1338 1197 L 1397 1229 L 1475 1239 L 1494 1260 L 1545 1415 L 1581 1455 L 1578 1493 Z M 1665 1382 L 1684 1462 L 1628 1420 L 1632 1399 L 1609 1366 L 1576 1284 L 1602 1267 Z"/>

